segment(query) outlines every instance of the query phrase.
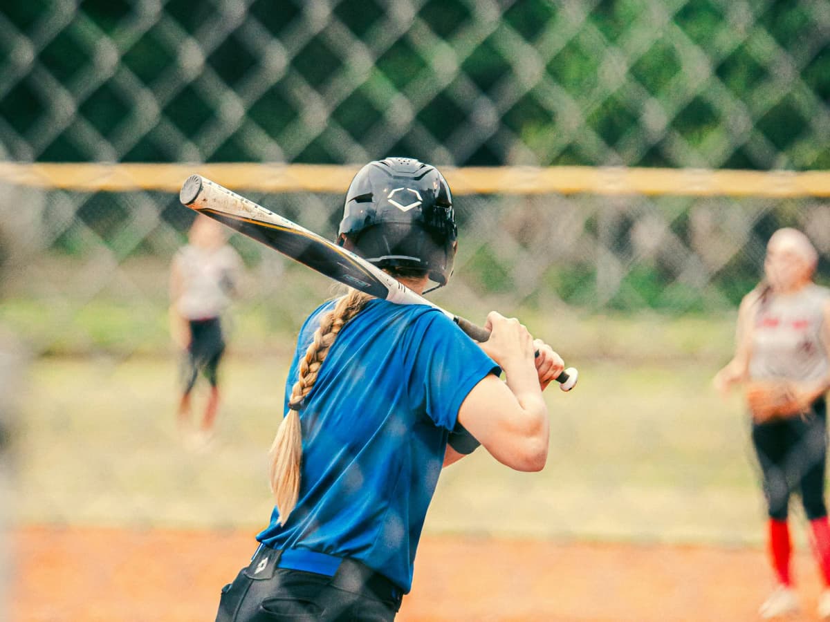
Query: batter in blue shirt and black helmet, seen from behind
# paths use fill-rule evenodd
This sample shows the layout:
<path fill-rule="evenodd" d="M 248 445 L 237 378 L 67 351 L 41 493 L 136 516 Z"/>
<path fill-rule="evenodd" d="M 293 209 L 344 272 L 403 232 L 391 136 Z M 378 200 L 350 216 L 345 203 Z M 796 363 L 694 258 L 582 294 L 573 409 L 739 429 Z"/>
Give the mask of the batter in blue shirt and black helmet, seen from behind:
<path fill-rule="evenodd" d="M 409 158 L 367 164 L 339 243 L 418 294 L 446 284 L 457 248 L 446 180 Z M 442 466 L 481 443 L 512 469 L 544 467 L 542 391 L 562 359 L 515 318 L 490 313 L 486 328 L 476 343 L 437 309 L 356 290 L 311 313 L 271 447 L 276 507 L 217 622 L 393 620 Z"/>

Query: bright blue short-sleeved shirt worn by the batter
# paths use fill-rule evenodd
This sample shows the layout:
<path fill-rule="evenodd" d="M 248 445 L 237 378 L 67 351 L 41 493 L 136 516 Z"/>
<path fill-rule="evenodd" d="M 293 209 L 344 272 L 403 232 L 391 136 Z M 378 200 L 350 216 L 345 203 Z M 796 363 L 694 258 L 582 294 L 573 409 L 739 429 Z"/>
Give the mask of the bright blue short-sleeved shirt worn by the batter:
<path fill-rule="evenodd" d="M 322 305 L 300 330 L 300 356 Z M 447 436 L 473 386 L 499 367 L 451 319 L 426 305 L 372 299 L 340 330 L 300 411 L 300 497 L 286 525 L 257 540 L 351 557 L 408 592 L 415 550 Z"/>

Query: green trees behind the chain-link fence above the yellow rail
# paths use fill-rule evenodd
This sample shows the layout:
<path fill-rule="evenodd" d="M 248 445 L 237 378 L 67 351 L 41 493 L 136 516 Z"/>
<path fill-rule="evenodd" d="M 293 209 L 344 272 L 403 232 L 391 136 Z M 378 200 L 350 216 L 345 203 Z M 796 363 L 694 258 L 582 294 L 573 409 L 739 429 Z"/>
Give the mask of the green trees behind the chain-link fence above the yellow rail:
<path fill-rule="evenodd" d="M 524 0 L 500 15 L 465 0 L 344 0 L 331 14 L 232 4 L 85 0 L 66 16 L 45 0 L 5 2 L 0 157 L 280 159 L 316 90 L 335 101 L 331 127 L 293 162 L 357 159 L 338 148 L 345 137 L 374 156 L 438 150 L 462 166 L 830 168 L 830 141 L 816 139 L 827 135 L 830 37 L 808 2 Z M 193 44 L 201 68 L 183 62 Z M 227 92 L 244 97 L 243 119 Z"/>

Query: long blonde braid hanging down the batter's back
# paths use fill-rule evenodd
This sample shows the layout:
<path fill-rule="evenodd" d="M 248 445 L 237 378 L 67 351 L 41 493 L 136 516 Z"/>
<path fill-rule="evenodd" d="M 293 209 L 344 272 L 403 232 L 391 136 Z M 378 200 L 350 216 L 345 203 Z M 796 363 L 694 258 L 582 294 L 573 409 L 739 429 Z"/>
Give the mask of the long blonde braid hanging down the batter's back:
<path fill-rule="evenodd" d="M 300 378 L 291 388 L 288 415 L 276 431 L 270 452 L 271 491 L 276 498 L 276 509 L 280 515 L 278 521 L 281 525 L 286 524 L 300 495 L 300 459 L 303 443 L 299 411 L 303 398 L 314 386 L 320 366 L 340 329 L 360 313 L 370 298 L 369 294 L 349 289 L 349 292 L 334 305 L 334 309 L 320 319 L 320 327 L 315 331 L 314 338 L 305 351 L 305 357 L 300 360 Z"/>

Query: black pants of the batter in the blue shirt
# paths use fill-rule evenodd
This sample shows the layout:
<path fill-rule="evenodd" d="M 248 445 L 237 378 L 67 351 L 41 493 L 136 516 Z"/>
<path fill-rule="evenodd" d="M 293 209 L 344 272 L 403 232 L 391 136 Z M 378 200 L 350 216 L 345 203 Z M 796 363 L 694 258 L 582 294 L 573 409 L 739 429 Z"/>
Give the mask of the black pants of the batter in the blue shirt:
<path fill-rule="evenodd" d="M 285 563 L 281 551 L 259 547 L 247 568 L 222 589 L 216 622 L 395 619 L 403 590 L 359 561 L 323 557 L 335 562 L 330 570 L 303 571 L 296 563 Z"/>

